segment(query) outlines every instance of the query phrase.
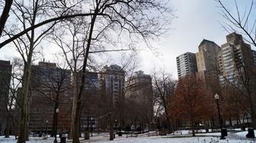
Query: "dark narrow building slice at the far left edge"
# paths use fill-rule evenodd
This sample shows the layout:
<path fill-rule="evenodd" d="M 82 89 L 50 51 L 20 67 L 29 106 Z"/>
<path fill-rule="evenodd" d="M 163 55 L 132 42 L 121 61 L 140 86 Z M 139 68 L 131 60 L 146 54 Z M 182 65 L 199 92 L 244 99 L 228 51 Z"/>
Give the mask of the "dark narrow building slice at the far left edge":
<path fill-rule="evenodd" d="M 6 126 L 6 101 L 9 96 L 11 83 L 11 63 L 0 60 L 0 135 L 5 133 Z"/>

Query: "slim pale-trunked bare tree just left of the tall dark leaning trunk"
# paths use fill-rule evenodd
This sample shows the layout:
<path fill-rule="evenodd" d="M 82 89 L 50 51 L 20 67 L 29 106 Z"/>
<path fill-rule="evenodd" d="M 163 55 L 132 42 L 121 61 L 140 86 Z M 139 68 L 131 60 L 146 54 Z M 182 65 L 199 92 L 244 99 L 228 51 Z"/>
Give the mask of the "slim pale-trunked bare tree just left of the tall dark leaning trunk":
<path fill-rule="evenodd" d="M 80 75 L 78 75 L 78 72 L 81 70 L 81 61 L 83 61 L 83 56 L 85 55 L 85 44 L 88 36 L 88 28 L 86 23 L 87 22 L 83 18 L 76 18 L 76 20 L 67 21 L 66 23 L 63 23 L 63 25 L 61 25 L 66 29 L 66 31 L 65 29 L 60 29 L 60 31 L 55 32 L 55 34 L 53 35 L 55 44 L 57 44 L 58 47 L 61 48 L 64 55 L 64 60 L 66 60 L 67 65 L 72 72 L 73 110 L 71 132 L 69 136 L 70 138 L 74 138 L 72 128 L 73 126 L 78 127 L 80 120 L 80 117 L 77 117 L 76 122 L 73 122 L 73 117 L 75 117 L 74 114 L 76 114 L 76 111 L 74 111 L 74 109 L 76 108 L 76 104 L 78 103 L 80 106 L 82 104 L 82 96 L 80 96 L 80 98 L 77 98 L 79 89 L 78 87 L 80 85 L 80 81 L 78 79 L 81 78 Z M 65 39 L 64 35 L 70 35 L 71 40 L 68 41 L 67 39 Z M 74 123 L 76 125 L 73 125 Z M 77 138 L 79 138 L 79 130 L 76 131 Z"/>

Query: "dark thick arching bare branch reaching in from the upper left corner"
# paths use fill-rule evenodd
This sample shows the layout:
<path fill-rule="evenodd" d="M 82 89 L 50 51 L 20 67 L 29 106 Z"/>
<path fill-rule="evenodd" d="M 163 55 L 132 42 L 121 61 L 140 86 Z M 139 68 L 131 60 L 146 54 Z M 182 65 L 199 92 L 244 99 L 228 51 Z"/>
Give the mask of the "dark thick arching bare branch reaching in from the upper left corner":
<path fill-rule="evenodd" d="M 17 1 L 16 1 L 17 2 Z M 22 1 L 20 1 L 22 2 Z M 83 0 L 77 0 L 77 1 L 73 1 L 73 2 L 66 2 L 66 1 L 36 1 L 34 0 L 33 2 L 23 2 L 23 4 L 25 5 L 33 5 L 35 4 L 35 2 L 37 4 L 46 4 L 47 6 L 45 6 L 45 8 L 48 8 L 48 11 L 44 11 L 42 13 L 44 13 L 45 15 L 48 16 L 48 18 L 42 19 L 40 21 L 36 21 L 33 25 L 24 27 L 25 29 L 20 29 L 20 30 L 16 30 L 13 35 L 11 36 L 2 36 L 2 32 L 4 32 L 6 29 L 12 29 L 13 26 L 9 26 L 8 23 L 8 17 L 11 18 L 17 16 L 16 14 L 11 13 L 11 8 L 15 7 L 15 1 L 13 0 L 9 0 L 9 1 L 5 1 L 2 2 L 2 14 L 1 14 L 1 23 L 0 23 L 0 38 L 5 37 L 5 40 L 2 41 L 0 43 L 0 48 L 4 47 L 6 44 L 11 43 L 12 41 L 16 40 L 17 38 L 20 38 L 23 35 L 26 35 L 27 33 L 29 33 L 32 30 L 38 29 L 39 27 L 51 24 L 51 23 L 59 23 L 63 20 L 67 20 L 70 18 L 74 18 L 74 17 L 89 17 L 92 16 L 92 13 L 86 13 L 86 11 L 83 11 L 82 6 L 80 5 L 82 2 L 84 2 Z M 79 6 L 77 6 L 79 5 Z M 30 9 L 27 9 L 27 12 L 29 12 Z M 51 11 L 52 10 L 52 11 Z M 9 18 L 9 19 L 10 19 Z M 11 20 L 9 20 L 10 23 Z M 18 26 L 17 23 L 13 23 L 13 25 Z"/>

